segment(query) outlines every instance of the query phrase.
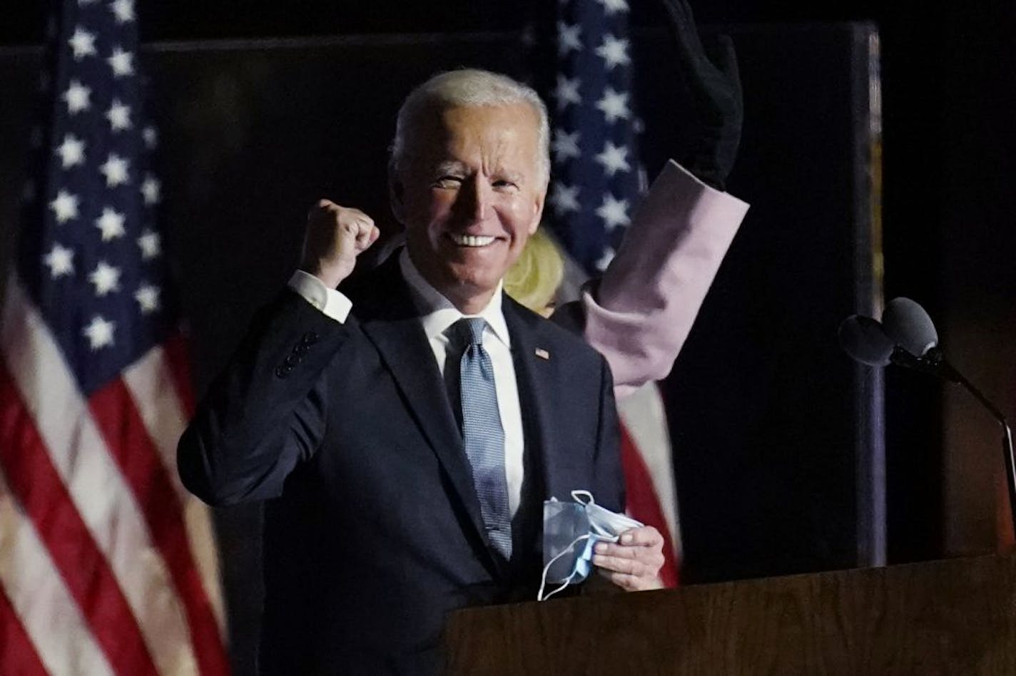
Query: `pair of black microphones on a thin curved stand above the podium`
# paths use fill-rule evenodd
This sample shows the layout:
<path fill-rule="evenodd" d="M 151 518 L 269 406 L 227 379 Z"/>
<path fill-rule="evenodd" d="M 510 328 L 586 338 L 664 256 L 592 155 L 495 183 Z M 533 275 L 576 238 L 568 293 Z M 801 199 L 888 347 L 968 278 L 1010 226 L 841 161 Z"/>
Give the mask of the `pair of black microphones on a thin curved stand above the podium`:
<path fill-rule="evenodd" d="M 935 323 L 919 303 L 910 298 L 893 298 L 886 303 L 882 323 L 870 317 L 851 315 L 839 325 L 839 340 L 851 357 L 873 366 L 895 363 L 932 374 L 950 383 L 962 385 L 1002 425 L 1002 453 L 1006 463 L 1009 488 L 1009 512 L 1016 530 L 1016 462 L 1013 460 L 1013 435 L 1002 411 L 980 390 L 960 374 L 939 347 Z M 887 348 L 886 345 L 890 347 Z"/>

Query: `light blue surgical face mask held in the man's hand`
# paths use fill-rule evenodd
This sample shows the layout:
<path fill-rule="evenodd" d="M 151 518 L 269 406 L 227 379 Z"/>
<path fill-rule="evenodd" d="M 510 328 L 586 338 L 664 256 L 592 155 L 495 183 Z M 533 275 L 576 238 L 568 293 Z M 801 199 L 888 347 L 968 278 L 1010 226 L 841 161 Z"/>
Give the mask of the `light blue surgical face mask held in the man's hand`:
<path fill-rule="evenodd" d="M 572 498 L 574 502 L 554 497 L 544 502 L 544 574 L 537 601 L 585 580 L 592 568 L 594 544 L 617 542 L 623 532 L 643 526 L 596 504 L 587 490 L 573 490 Z M 548 582 L 561 586 L 545 596 Z"/>

